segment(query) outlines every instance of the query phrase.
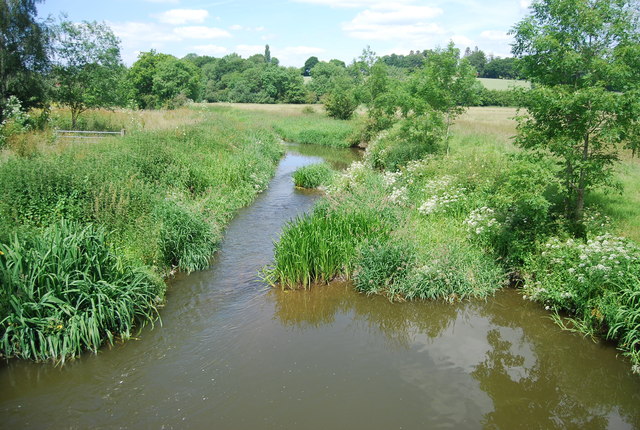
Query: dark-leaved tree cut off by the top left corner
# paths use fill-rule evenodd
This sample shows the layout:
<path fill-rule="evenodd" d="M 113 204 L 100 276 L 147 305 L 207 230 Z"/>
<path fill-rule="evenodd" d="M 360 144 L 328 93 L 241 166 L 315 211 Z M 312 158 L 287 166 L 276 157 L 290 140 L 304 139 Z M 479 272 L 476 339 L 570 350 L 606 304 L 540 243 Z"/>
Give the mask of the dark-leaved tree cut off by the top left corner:
<path fill-rule="evenodd" d="M 36 21 L 38 0 L 0 3 L 0 122 L 9 97 L 22 106 L 37 106 L 45 99 L 42 74 L 49 66 L 49 31 Z"/>

